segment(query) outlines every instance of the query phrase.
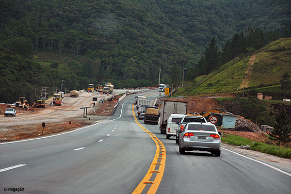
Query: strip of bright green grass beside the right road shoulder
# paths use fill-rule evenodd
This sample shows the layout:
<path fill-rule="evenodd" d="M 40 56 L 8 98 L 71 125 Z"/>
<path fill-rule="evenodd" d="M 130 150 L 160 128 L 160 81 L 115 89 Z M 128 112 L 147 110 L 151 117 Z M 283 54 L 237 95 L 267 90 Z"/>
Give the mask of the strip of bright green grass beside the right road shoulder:
<path fill-rule="evenodd" d="M 275 145 L 268 145 L 261 142 L 254 142 L 250 139 L 228 134 L 224 134 L 221 139 L 222 142 L 225 144 L 234 146 L 250 146 L 250 150 L 278 156 L 280 158 L 291 159 L 291 148 L 288 147 L 280 147 Z"/>

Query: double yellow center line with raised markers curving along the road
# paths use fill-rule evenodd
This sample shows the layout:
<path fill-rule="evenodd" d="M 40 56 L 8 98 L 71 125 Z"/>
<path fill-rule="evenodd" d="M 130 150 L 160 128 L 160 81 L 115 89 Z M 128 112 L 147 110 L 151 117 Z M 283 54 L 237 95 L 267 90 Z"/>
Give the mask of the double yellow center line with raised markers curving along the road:
<path fill-rule="evenodd" d="M 147 134 L 149 134 L 157 146 L 155 157 L 146 173 L 146 176 L 143 178 L 132 194 L 141 194 L 142 192 L 145 193 L 146 191 L 144 192 L 144 190 L 147 190 L 147 194 L 155 194 L 162 181 L 162 176 L 165 169 L 166 149 L 162 142 L 154 134 L 152 134 L 138 122 L 134 113 L 134 104 L 132 105 L 132 114 L 137 125 L 146 131 Z"/>

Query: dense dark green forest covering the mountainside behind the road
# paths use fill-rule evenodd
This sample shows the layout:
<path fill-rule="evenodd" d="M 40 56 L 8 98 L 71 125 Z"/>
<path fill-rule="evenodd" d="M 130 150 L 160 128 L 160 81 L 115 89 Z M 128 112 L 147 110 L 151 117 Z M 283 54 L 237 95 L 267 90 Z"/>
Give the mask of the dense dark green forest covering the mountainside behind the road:
<path fill-rule="evenodd" d="M 183 69 L 191 81 L 246 48 L 290 37 L 290 7 L 290 0 L 0 0 L 0 102 L 33 99 L 41 86 L 53 92 L 61 80 L 70 90 L 105 81 L 154 86 L 160 69 L 161 82 L 178 85 Z"/>

